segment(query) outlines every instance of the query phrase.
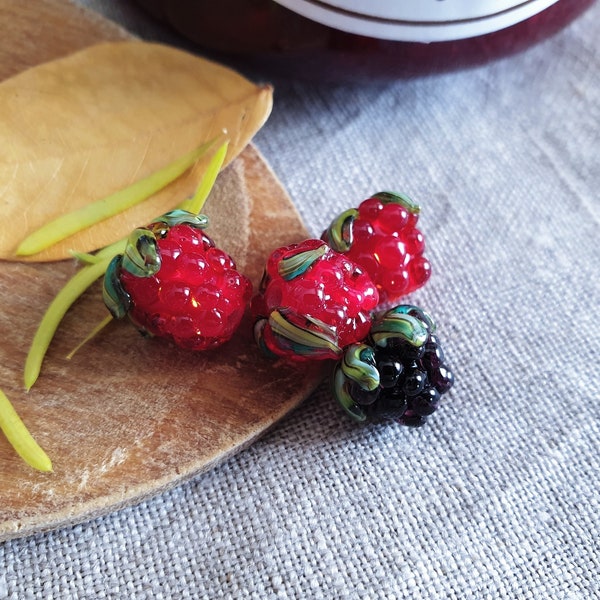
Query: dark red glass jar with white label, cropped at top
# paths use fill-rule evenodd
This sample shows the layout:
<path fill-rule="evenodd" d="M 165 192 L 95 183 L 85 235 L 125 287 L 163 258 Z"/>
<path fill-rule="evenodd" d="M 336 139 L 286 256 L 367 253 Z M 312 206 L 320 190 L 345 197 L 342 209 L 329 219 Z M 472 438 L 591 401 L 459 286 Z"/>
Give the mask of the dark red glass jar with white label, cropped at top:
<path fill-rule="evenodd" d="M 264 76 L 330 81 L 403 77 L 482 64 L 556 33 L 593 3 L 138 1 L 224 62 Z"/>

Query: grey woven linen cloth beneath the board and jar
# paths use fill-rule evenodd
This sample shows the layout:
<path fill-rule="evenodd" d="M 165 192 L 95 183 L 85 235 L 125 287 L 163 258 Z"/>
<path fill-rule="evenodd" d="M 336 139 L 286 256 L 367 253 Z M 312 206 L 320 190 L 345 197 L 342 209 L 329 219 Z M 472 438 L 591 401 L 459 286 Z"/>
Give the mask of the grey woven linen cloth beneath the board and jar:
<path fill-rule="evenodd" d="M 409 300 L 455 387 L 409 429 L 351 423 L 323 385 L 193 481 L 0 544 L 0 599 L 600 597 L 599 39 L 595 4 L 475 69 L 279 83 L 256 144 L 313 235 L 381 189 L 421 203 Z"/>

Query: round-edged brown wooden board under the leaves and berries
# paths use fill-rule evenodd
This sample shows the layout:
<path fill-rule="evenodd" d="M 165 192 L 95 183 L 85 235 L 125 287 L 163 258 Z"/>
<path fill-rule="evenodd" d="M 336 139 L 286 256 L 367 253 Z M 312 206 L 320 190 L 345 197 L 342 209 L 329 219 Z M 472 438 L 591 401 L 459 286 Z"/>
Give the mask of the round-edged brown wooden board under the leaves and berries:
<path fill-rule="evenodd" d="M 0 79 L 128 37 L 65 0 L 3 0 L 0 31 Z M 232 195 L 237 209 L 220 208 L 220 198 Z M 211 235 L 235 252 L 255 286 L 273 248 L 306 237 L 252 146 L 219 176 L 205 208 L 216 221 Z M 227 221 L 233 213 L 237 221 Z M 97 285 L 68 313 L 40 379 L 25 393 L 32 336 L 75 268 L 71 261 L 0 262 L 0 387 L 54 464 L 53 473 L 33 471 L 0 436 L 0 541 L 106 514 L 206 471 L 252 443 L 325 375 L 323 364 L 291 367 L 259 355 L 248 316 L 234 340 L 211 353 L 187 353 L 113 323 L 67 360 L 106 314 Z"/>

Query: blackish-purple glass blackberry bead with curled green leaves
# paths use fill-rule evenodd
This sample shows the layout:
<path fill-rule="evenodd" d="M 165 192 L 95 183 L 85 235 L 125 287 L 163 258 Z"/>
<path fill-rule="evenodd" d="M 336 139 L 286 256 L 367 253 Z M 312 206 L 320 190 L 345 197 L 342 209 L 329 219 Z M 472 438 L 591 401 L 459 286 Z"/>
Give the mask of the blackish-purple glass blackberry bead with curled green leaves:
<path fill-rule="evenodd" d="M 433 319 L 403 304 L 377 316 L 366 343 L 346 349 L 332 389 L 358 421 L 392 418 L 423 425 L 454 383 Z"/>

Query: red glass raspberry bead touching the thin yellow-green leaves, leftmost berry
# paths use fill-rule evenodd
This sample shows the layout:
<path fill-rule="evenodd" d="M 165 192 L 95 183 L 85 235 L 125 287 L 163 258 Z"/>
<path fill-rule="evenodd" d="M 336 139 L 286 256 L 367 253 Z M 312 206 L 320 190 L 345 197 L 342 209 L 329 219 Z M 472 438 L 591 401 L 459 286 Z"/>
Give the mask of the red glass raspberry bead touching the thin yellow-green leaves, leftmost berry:
<path fill-rule="evenodd" d="M 143 333 L 189 350 L 229 340 L 252 295 L 250 280 L 202 231 L 202 219 L 173 211 L 137 229 L 105 278 L 105 302 L 115 316 L 126 313 Z"/>

